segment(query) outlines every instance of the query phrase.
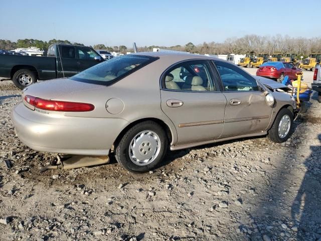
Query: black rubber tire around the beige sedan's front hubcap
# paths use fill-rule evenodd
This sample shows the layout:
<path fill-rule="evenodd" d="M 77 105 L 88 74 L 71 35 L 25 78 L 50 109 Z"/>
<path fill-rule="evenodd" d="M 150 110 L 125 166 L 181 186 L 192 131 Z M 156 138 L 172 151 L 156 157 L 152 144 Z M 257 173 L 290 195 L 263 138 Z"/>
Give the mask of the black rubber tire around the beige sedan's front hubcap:
<path fill-rule="evenodd" d="M 281 138 L 279 136 L 279 133 L 278 133 L 278 128 L 279 128 L 279 124 L 280 124 L 280 121 L 281 121 L 282 117 L 285 116 L 285 115 L 288 115 L 289 118 L 290 118 L 290 129 L 289 129 L 288 133 L 286 134 L 286 136 Z M 293 127 L 293 113 L 288 108 L 282 108 L 277 113 L 271 129 L 268 130 L 268 132 L 267 132 L 268 133 L 268 138 L 272 142 L 275 142 L 275 143 L 285 142 L 290 137 L 290 135 L 292 134 L 292 127 Z"/>

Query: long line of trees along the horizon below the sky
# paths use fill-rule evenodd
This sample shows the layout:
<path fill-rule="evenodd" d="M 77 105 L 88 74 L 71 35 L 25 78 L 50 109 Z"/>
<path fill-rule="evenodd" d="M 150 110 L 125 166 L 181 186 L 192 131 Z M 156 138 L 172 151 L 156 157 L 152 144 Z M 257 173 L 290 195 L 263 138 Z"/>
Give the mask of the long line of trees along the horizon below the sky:
<path fill-rule="evenodd" d="M 0 40 L 0 49 L 12 50 L 15 48 L 28 48 L 35 46 L 37 48 L 48 50 L 48 47 L 53 43 L 75 44 L 82 45 L 81 43 L 71 43 L 68 40 L 42 41 L 36 39 L 19 39 L 17 42 L 10 40 Z M 96 44 L 90 46 L 94 49 L 104 49 L 110 52 L 133 52 L 132 48 L 124 45 L 120 46 L 105 46 L 104 44 Z M 308 56 L 310 53 L 321 53 L 321 37 L 303 38 L 303 37 L 289 37 L 282 35 L 275 36 L 258 36 L 258 35 L 245 35 L 241 38 L 228 38 L 222 43 L 218 42 L 204 42 L 203 44 L 194 45 L 192 42 L 186 45 L 175 46 L 144 46 L 137 47 L 139 52 L 152 51 L 153 48 L 161 48 L 168 50 L 186 51 L 198 54 L 246 54 L 254 52 L 259 53 L 294 53 L 298 56 Z"/>

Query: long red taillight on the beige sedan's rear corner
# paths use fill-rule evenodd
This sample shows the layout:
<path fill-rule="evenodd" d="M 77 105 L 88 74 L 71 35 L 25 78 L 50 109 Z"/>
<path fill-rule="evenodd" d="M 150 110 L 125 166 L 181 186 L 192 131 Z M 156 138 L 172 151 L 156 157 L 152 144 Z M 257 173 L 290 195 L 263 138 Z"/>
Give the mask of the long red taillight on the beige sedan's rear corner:
<path fill-rule="evenodd" d="M 95 108 L 93 104 L 42 99 L 31 95 L 26 95 L 25 100 L 36 108 L 52 111 L 91 111 Z"/>

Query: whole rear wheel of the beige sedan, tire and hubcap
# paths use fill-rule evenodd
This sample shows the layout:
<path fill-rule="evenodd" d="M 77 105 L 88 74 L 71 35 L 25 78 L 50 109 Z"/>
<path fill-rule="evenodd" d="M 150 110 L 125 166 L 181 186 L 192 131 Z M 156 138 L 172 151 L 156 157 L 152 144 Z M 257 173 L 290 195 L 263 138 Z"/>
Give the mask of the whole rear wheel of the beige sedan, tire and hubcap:
<path fill-rule="evenodd" d="M 164 159 L 167 145 L 163 128 L 155 122 L 146 121 L 125 133 L 115 145 L 115 157 L 130 172 L 148 172 Z"/>

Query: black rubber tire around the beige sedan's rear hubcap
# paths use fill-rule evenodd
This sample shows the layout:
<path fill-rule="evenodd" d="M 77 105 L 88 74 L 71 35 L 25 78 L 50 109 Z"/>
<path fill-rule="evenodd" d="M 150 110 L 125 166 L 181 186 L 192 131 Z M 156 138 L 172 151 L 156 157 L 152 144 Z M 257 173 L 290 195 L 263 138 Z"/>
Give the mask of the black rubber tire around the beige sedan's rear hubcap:
<path fill-rule="evenodd" d="M 152 131 L 158 135 L 161 147 L 156 158 L 147 165 L 139 166 L 130 159 L 129 147 L 133 138 L 143 131 Z M 115 158 L 119 164 L 130 172 L 144 173 L 153 170 L 164 159 L 168 148 L 168 138 L 165 130 L 155 122 L 145 121 L 130 128 L 115 145 Z"/>

